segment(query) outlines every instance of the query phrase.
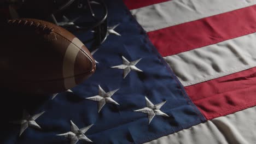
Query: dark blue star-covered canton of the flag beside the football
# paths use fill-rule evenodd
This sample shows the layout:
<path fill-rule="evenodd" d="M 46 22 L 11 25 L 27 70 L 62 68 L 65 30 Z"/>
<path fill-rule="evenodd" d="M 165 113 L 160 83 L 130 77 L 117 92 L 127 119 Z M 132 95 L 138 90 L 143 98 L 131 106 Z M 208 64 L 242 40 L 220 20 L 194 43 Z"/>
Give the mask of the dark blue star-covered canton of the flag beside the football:
<path fill-rule="evenodd" d="M 106 3 L 120 35 L 110 33 L 94 53 L 96 73 L 72 92 L 20 105 L 31 116 L 45 111 L 35 119 L 41 129 L 28 126 L 19 137 L 22 125 L 8 123 L 3 143 L 143 143 L 205 121 L 123 1 Z"/>

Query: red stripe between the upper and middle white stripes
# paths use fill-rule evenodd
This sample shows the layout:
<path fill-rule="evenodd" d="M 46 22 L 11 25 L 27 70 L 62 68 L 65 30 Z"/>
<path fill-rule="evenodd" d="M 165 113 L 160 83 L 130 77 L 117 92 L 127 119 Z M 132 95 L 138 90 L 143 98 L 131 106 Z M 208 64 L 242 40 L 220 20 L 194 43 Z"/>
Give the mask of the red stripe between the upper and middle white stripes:
<path fill-rule="evenodd" d="M 256 5 L 148 32 L 162 56 L 256 32 Z"/>

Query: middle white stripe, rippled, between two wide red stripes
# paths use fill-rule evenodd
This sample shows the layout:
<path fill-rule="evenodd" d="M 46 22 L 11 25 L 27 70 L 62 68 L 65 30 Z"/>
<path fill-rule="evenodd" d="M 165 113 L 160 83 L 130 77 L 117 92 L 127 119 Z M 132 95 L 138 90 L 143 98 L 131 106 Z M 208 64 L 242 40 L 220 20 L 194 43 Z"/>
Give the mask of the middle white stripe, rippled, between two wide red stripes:
<path fill-rule="evenodd" d="M 256 33 L 164 57 L 183 86 L 256 66 Z"/>

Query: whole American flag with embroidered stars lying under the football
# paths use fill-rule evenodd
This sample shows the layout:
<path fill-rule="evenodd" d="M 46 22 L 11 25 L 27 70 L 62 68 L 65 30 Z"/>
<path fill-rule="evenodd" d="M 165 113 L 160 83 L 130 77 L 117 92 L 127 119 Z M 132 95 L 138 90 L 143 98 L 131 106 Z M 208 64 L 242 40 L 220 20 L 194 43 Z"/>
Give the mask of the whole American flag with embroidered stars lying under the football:
<path fill-rule="evenodd" d="M 256 142 L 255 0 L 106 3 L 96 73 L 50 98 L 2 92 L 1 143 Z"/>

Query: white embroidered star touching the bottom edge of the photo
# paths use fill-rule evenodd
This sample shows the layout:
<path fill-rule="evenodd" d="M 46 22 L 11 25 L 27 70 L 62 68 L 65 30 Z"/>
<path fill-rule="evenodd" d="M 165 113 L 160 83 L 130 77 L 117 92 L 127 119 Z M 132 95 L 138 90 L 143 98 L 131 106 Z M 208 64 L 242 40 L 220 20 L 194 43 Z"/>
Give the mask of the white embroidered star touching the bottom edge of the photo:
<path fill-rule="evenodd" d="M 77 125 L 75 125 L 72 121 L 71 122 L 71 131 L 64 133 L 64 134 L 59 134 L 59 136 L 64 136 L 67 137 L 68 139 L 70 139 L 70 144 L 75 144 L 77 143 L 79 140 L 81 141 L 85 141 L 85 142 L 92 142 L 90 139 L 88 139 L 88 137 L 86 137 L 84 134 L 86 133 L 86 131 L 88 131 L 92 125 L 89 125 L 88 127 L 84 127 L 82 129 L 79 129 L 77 127 Z"/>

